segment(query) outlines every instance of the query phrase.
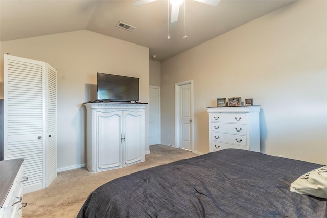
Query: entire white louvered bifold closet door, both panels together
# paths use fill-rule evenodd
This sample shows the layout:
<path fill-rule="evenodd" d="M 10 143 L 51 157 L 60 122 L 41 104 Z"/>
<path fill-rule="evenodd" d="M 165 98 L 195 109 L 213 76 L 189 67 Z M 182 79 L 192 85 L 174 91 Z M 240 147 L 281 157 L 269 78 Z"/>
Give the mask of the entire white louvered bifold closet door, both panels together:
<path fill-rule="evenodd" d="M 57 70 L 5 54 L 4 160 L 24 158 L 24 193 L 57 177 Z"/>

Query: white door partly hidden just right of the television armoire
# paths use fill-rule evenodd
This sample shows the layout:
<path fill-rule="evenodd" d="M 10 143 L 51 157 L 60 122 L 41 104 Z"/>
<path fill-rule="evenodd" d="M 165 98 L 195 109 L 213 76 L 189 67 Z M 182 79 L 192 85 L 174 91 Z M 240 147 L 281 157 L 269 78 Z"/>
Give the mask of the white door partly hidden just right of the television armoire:
<path fill-rule="evenodd" d="M 160 144 L 160 87 L 150 86 L 150 145 Z"/>

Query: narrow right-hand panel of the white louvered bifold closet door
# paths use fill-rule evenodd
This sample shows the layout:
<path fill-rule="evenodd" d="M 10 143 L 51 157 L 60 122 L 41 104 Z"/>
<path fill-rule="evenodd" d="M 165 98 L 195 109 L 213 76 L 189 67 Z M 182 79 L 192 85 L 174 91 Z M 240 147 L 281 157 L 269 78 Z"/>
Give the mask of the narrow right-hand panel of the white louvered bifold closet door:
<path fill-rule="evenodd" d="M 46 184 L 57 177 L 57 70 L 46 64 Z"/>

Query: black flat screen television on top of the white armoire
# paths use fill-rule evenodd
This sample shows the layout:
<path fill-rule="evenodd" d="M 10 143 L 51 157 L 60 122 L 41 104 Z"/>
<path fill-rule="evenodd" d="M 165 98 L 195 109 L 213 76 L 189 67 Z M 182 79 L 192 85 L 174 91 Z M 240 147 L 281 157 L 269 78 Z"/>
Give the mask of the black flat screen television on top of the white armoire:
<path fill-rule="evenodd" d="M 139 78 L 98 73 L 97 101 L 139 101 Z"/>

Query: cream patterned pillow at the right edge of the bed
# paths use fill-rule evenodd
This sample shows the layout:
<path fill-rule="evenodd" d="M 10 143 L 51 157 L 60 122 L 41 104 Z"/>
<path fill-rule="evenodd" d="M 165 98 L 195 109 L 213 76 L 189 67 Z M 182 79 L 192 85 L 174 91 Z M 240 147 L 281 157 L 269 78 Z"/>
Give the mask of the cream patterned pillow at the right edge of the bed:
<path fill-rule="evenodd" d="M 327 199 L 327 166 L 299 177 L 291 184 L 291 191 Z"/>

